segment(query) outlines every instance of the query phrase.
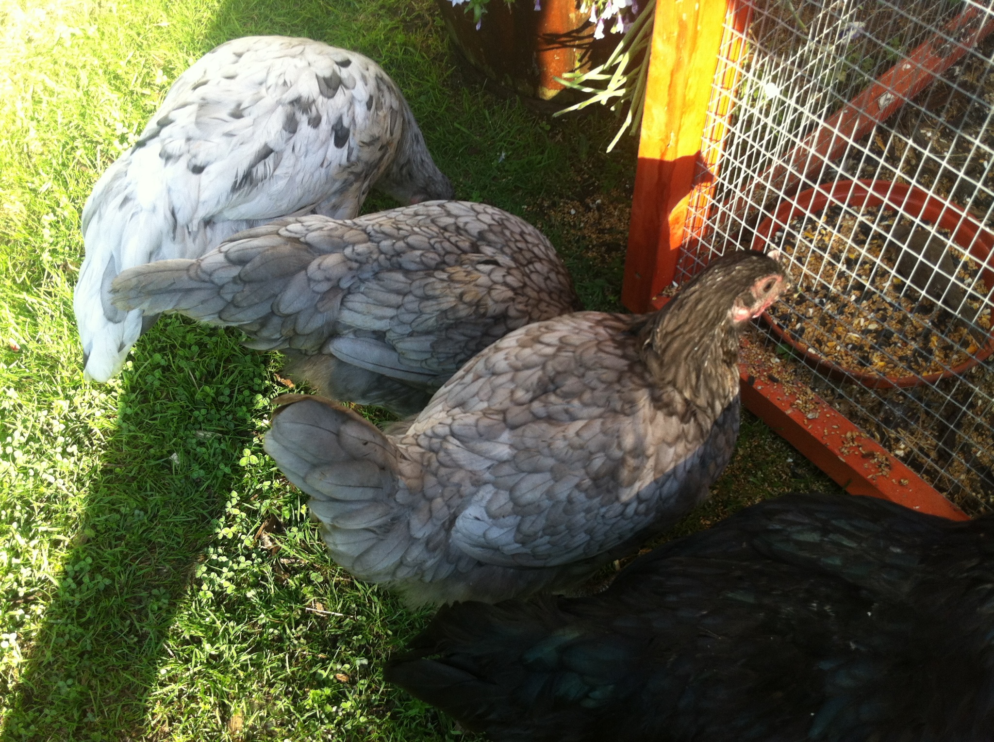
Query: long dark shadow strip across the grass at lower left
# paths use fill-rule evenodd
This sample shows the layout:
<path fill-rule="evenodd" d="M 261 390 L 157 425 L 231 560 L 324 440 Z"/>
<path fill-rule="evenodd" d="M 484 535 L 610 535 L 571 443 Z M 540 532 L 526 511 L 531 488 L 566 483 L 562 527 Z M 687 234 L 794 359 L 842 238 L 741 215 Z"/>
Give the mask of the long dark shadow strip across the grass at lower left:
<path fill-rule="evenodd" d="M 238 487 L 258 392 L 271 388 L 264 359 L 234 336 L 169 318 L 139 343 L 3 742 L 143 736 L 178 599 Z"/>

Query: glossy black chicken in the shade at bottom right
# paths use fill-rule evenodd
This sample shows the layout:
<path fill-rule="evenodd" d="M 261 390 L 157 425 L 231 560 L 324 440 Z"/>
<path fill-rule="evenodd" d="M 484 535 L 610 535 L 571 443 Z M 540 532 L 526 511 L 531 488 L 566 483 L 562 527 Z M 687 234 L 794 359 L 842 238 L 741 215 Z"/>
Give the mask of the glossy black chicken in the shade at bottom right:
<path fill-rule="evenodd" d="M 994 517 L 788 495 L 604 592 L 443 609 L 388 680 L 500 742 L 979 742 Z"/>

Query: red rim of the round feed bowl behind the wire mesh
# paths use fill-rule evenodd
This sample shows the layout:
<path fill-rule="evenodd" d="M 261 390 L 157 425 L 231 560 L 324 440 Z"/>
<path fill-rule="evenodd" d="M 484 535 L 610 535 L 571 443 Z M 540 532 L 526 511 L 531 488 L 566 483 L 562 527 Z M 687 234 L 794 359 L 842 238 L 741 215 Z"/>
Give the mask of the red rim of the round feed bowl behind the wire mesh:
<path fill-rule="evenodd" d="M 988 289 L 994 288 L 994 271 L 986 264 L 987 256 L 994 249 L 994 234 L 968 217 L 962 209 L 930 196 L 921 189 L 891 181 L 836 181 L 802 191 L 790 201 L 781 202 L 772 217 L 759 223 L 755 238 L 752 240 L 752 249 L 764 250 L 766 242 L 773 234 L 785 228 L 795 217 L 817 214 L 830 206 L 846 205 L 854 208 L 886 206 L 910 217 L 918 217 L 924 222 L 949 229 L 952 232 L 952 240 L 984 266 L 980 271 L 984 284 Z M 940 378 L 948 378 L 972 369 L 994 353 L 994 327 L 992 327 L 987 335 L 987 343 L 968 361 L 953 369 L 928 373 L 924 376 L 885 376 L 874 371 L 844 369 L 815 353 L 803 343 L 795 341 L 768 313 L 764 312 L 762 319 L 780 340 L 796 350 L 807 363 L 826 371 L 834 378 L 858 381 L 865 386 L 878 389 L 934 383 Z"/>

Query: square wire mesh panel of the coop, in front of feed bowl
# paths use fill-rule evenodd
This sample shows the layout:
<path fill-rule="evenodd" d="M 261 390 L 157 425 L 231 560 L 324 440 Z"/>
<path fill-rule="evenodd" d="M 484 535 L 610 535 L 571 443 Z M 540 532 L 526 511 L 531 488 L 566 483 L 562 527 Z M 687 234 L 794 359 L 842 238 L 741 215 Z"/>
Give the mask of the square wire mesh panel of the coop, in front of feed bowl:
<path fill-rule="evenodd" d="M 765 342 L 971 514 L 994 510 L 992 31 L 975 2 L 752 4 L 677 270 L 782 250 L 799 292 Z"/>

